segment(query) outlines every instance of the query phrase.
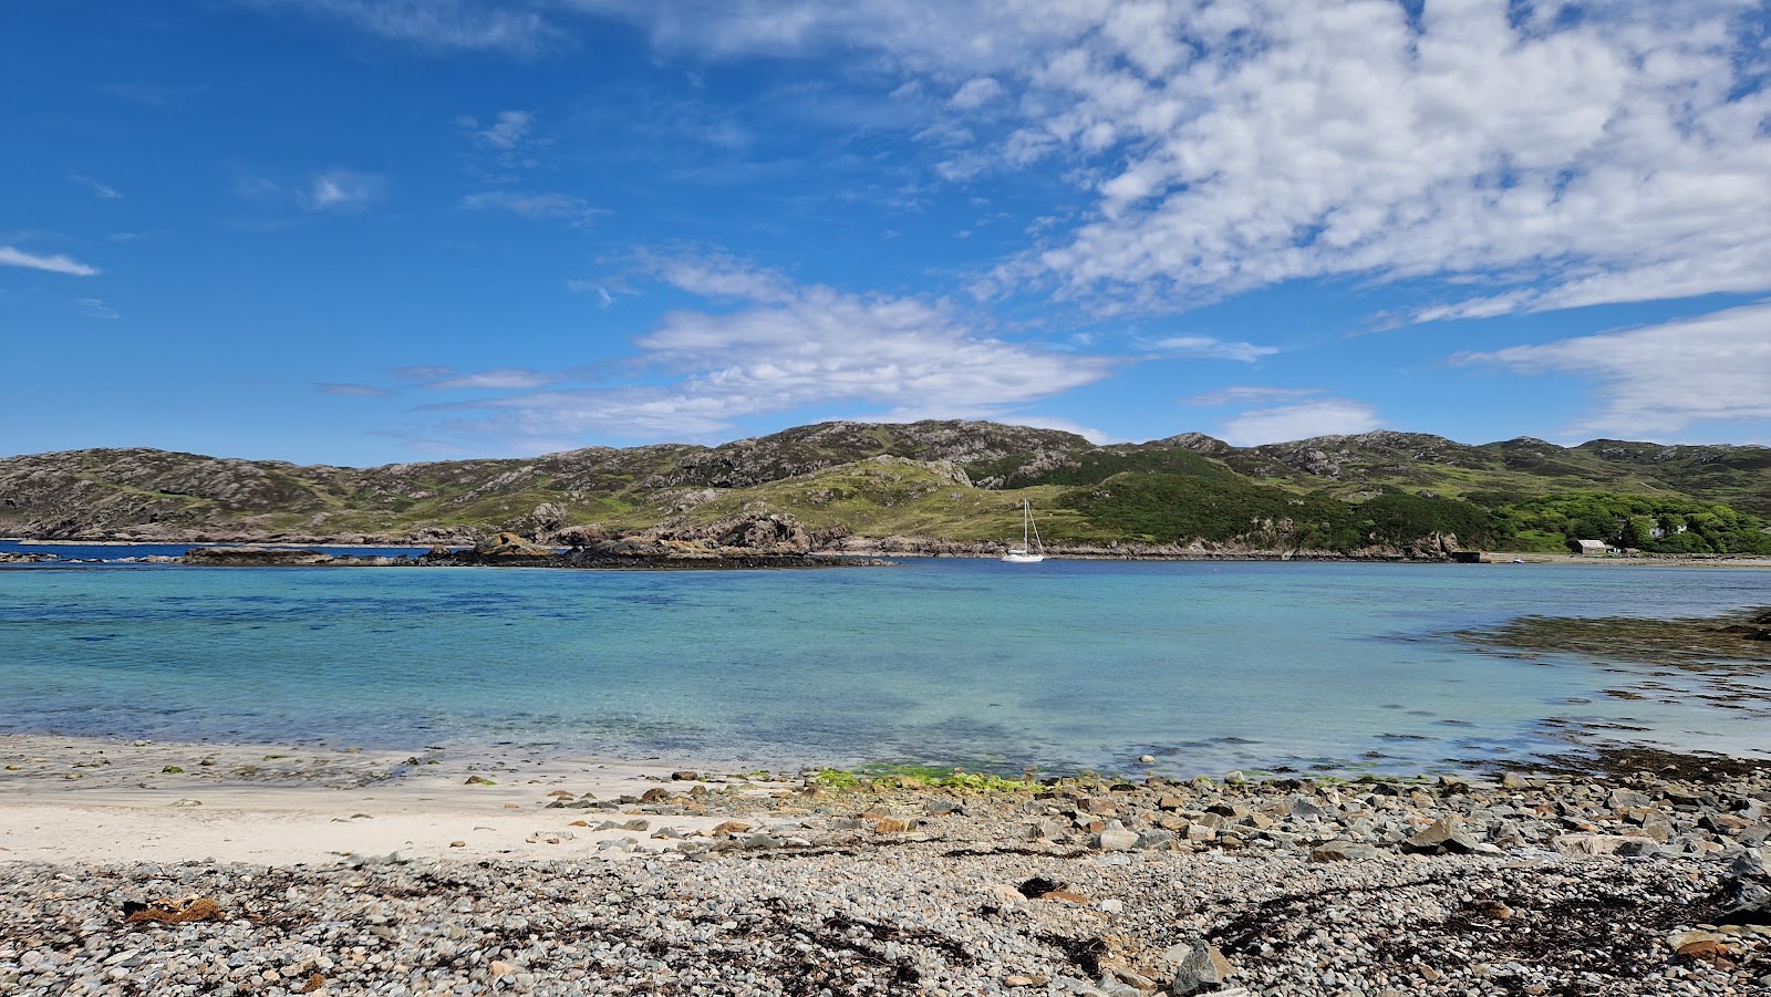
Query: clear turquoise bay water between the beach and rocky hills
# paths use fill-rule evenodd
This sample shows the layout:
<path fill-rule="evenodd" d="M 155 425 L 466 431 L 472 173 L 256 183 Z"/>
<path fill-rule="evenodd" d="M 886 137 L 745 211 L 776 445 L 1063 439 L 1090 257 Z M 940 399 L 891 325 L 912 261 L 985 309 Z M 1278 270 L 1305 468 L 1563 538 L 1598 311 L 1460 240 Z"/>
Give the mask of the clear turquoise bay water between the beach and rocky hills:
<path fill-rule="evenodd" d="M 1771 754 L 1698 678 L 1447 636 L 1757 604 L 1760 570 L 1582 565 L 23 567 L 0 731 L 1197 774 L 1528 758 L 1571 721 Z"/>

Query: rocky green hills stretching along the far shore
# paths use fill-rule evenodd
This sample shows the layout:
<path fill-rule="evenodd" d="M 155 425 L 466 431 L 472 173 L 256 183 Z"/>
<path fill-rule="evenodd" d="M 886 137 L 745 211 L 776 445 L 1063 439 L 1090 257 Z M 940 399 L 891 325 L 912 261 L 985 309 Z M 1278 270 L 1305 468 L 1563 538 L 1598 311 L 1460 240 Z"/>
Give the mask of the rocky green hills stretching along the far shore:
<path fill-rule="evenodd" d="M 1757 519 L 1771 515 L 1762 446 L 1468 446 L 1404 432 L 1094 446 L 999 423 L 832 421 L 712 448 L 383 468 L 161 450 L 0 459 L 0 533 L 69 540 L 432 544 L 508 529 L 553 542 L 783 512 L 854 547 L 983 551 L 1018 537 L 1022 499 L 1047 538 L 1079 547 L 1387 556 L 1659 531 L 1686 551 L 1771 553 Z"/>

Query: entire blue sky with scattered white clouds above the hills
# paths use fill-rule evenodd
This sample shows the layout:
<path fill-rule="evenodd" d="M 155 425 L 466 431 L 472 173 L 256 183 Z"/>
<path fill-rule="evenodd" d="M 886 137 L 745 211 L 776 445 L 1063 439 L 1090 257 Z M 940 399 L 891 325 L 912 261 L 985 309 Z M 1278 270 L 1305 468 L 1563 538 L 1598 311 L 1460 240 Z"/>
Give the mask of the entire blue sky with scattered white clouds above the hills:
<path fill-rule="evenodd" d="M 0 453 L 1771 443 L 1748 0 L 11 4 Z"/>

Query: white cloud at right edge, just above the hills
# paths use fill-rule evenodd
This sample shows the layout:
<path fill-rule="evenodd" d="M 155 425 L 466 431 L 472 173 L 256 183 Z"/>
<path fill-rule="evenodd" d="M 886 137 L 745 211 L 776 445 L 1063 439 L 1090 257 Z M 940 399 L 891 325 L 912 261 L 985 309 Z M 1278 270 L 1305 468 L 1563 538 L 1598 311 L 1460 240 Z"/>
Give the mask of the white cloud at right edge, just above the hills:
<path fill-rule="evenodd" d="M 1574 434 L 1645 437 L 1771 420 L 1771 303 L 1454 361 L 1596 381 L 1601 404 L 1569 427 Z"/>

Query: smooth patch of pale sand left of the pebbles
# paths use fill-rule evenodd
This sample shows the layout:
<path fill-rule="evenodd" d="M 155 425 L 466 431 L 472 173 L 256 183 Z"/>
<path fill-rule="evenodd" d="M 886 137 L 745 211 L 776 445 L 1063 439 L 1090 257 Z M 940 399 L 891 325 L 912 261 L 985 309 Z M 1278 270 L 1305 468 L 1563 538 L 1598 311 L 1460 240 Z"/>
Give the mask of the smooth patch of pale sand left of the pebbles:
<path fill-rule="evenodd" d="M 0 735 L 0 862 L 317 864 L 390 852 L 462 861 L 616 857 L 622 852 L 599 852 L 597 841 L 632 838 L 659 850 L 668 841 L 652 832 L 662 827 L 705 832 L 726 818 L 721 793 L 708 797 L 705 815 L 689 816 L 641 815 L 634 806 L 547 809 L 547 793 L 556 790 L 588 792 L 597 800 L 638 797 L 661 784 L 687 792 L 694 783 L 671 781 L 669 767 L 421 753 L 418 758 L 439 763 L 377 779 L 407 756 Z M 184 772 L 163 772 L 168 765 Z M 496 784 L 466 784 L 469 776 Z M 715 788 L 744 786 L 739 792 L 746 793 L 785 788 L 708 777 Z M 650 827 L 592 831 L 636 816 Z"/>

